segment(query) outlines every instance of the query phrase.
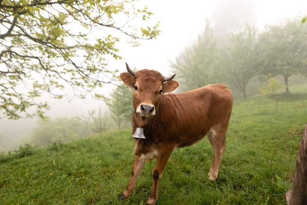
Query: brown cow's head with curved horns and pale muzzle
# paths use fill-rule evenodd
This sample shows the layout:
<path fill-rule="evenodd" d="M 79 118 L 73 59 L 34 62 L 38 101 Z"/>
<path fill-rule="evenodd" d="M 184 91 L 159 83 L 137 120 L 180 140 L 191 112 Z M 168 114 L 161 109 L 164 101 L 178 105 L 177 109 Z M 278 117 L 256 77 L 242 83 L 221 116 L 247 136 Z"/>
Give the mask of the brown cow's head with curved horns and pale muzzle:
<path fill-rule="evenodd" d="M 132 71 L 126 63 L 128 73 L 122 73 L 120 77 L 126 85 L 134 89 L 133 109 L 137 118 L 138 127 L 142 128 L 147 118 L 154 116 L 163 93 L 172 92 L 179 83 L 171 77 L 163 77 L 153 70 Z"/>

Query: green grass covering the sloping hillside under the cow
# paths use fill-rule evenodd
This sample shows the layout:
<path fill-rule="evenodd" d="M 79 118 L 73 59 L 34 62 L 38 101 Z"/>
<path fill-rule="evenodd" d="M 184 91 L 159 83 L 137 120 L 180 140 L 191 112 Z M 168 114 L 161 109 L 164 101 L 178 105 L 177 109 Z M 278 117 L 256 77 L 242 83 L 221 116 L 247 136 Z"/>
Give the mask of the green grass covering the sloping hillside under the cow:
<path fill-rule="evenodd" d="M 226 151 L 215 182 L 207 179 L 212 148 L 205 138 L 176 150 L 159 183 L 158 205 L 285 204 L 307 122 L 303 94 L 235 101 Z M 134 192 L 123 193 L 133 164 L 131 131 L 111 132 L 0 155 L 4 205 L 146 204 L 155 160 L 145 165 Z"/>

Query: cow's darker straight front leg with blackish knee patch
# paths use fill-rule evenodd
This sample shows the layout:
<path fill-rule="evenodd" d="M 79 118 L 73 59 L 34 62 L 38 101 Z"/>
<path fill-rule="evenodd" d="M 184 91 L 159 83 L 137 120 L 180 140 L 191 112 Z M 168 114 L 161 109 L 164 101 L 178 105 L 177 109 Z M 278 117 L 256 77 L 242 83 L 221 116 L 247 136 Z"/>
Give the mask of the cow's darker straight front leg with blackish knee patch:
<path fill-rule="evenodd" d="M 157 155 L 156 163 L 153 169 L 153 187 L 150 192 L 148 201 L 146 205 L 154 205 L 158 199 L 158 184 L 162 177 L 162 172 L 165 168 L 168 158 L 172 154 L 173 150 L 169 148 L 161 149 L 165 150 L 164 152 L 159 152 Z"/>

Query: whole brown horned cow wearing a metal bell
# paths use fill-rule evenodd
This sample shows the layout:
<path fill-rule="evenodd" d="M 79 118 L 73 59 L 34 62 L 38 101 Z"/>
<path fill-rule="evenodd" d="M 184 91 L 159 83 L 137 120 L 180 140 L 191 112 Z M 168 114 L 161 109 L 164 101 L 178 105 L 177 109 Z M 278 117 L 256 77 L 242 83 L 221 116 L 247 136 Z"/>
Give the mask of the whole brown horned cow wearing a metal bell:
<path fill-rule="evenodd" d="M 224 84 L 212 84 L 180 94 L 164 94 L 175 90 L 179 83 L 153 70 L 132 71 L 120 77 L 133 93 L 132 133 L 135 160 L 132 176 L 122 200 L 133 191 L 145 162 L 157 157 L 153 169 L 153 187 L 147 201 L 155 204 L 158 183 L 168 158 L 177 148 L 193 145 L 207 135 L 213 147 L 209 180 L 217 179 L 225 150 L 232 94 Z M 144 130 L 144 131 L 143 131 Z M 144 134 L 143 134 L 144 132 Z M 145 136 L 144 136 L 145 135 Z"/>

